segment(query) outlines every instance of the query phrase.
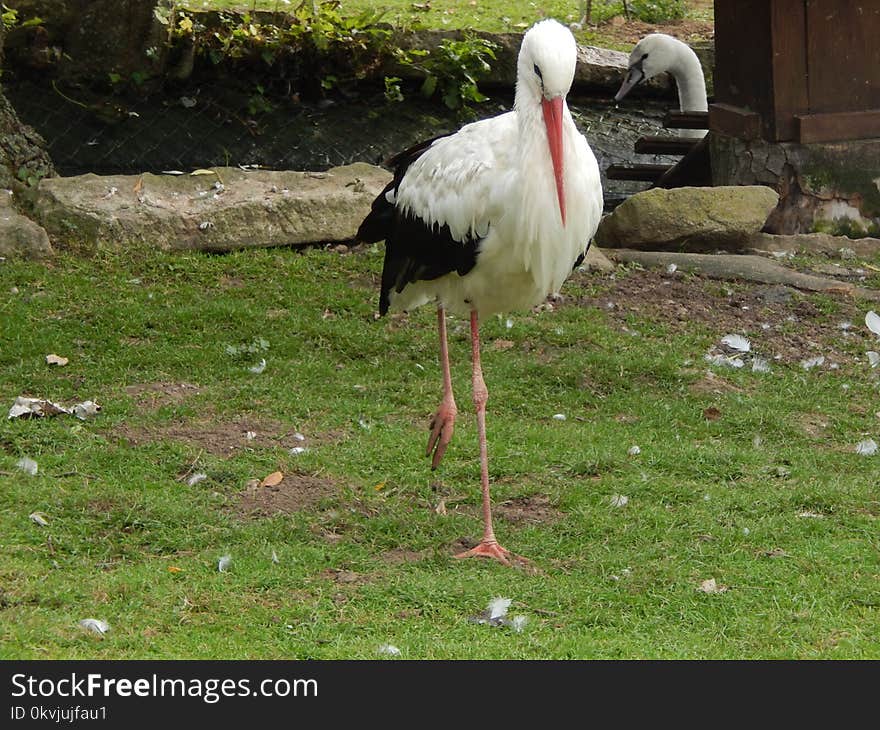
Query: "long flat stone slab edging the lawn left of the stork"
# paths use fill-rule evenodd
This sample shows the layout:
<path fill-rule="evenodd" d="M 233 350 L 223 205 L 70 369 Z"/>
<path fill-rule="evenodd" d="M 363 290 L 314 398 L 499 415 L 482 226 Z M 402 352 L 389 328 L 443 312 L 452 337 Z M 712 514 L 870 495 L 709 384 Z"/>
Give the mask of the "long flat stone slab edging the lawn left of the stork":
<path fill-rule="evenodd" d="M 187 175 L 41 180 L 34 217 L 59 246 L 227 251 L 347 241 L 391 173 L 366 163 L 323 173 L 216 167 Z"/>

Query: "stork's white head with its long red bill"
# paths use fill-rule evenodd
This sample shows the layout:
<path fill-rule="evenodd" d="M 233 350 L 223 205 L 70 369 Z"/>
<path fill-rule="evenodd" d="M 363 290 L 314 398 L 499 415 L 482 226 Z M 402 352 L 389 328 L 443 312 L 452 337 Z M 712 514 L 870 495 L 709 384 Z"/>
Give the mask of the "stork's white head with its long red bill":
<path fill-rule="evenodd" d="M 562 113 L 574 80 L 577 43 L 571 31 L 555 20 L 542 20 L 523 36 L 517 61 L 517 108 L 541 106 L 556 179 L 559 214 L 565 225 Z"/>

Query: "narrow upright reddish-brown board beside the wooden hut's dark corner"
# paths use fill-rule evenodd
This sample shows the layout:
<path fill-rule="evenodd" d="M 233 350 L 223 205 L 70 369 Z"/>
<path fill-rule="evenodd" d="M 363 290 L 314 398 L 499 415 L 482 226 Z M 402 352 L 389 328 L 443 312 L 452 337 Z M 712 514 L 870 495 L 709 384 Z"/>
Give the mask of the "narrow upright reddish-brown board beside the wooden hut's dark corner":
<path fill-rule="evenodd" d="M 794 115 L 809 110 L 807 93 L 807 11 L 810 0 L 772 0 L 770 5 L 772 102 L 763 114 L 763 137 L 794 139 Z M 810 28 L 811 32 L 824 32 Z M 744 49 L 745 50 L 745 49 Z M 836 62 L 825 61 L 830 66 Z M 812 69 L 810 69 L 812 71 Z M 766 73 L 766 71 L 765 71 Z"/>

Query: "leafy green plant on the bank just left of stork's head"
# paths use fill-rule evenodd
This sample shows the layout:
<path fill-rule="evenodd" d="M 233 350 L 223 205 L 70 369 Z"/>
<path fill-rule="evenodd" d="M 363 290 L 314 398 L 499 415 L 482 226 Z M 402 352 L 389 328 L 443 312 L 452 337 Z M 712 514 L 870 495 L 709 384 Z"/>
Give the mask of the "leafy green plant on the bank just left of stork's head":
<path fill-rule="evenodd" d="M 488 98 L 480 92 L 477 80 L 491 70 L 489 59 L 495 59 L 496 48 L 490 40 L 466 34 L 461 40 L 444 40 L 433 51 L 398 50 L 397 58 L 424 74 L 424 96 L 439 94 L 447 107 L 461 109 Z"/>

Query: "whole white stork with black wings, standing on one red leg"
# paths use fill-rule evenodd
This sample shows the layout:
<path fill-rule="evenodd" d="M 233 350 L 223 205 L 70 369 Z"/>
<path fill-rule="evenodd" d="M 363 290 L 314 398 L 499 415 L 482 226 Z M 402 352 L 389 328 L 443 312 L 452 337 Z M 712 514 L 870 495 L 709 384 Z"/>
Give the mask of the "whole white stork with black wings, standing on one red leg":
<path fill-rule="evenodd" d="M 361 241 L 385 240 L 380 314 L 437 305 L 443 399 L 426 450 L 432 468 L 446 452 L 458 413 L 446 311 L 470 316 L 484 532 L 460 558 L 507 564 L 510 557 L 492 529 L 479 318 L 528 309 L 557 292 L 583 260 L 602 215 L 599 167 L 565 102 L 576 61 L 565 26 L 534 25 L 519 52 L 514 110 L 389 160 L 394 179 L 358 231 Z"/>

